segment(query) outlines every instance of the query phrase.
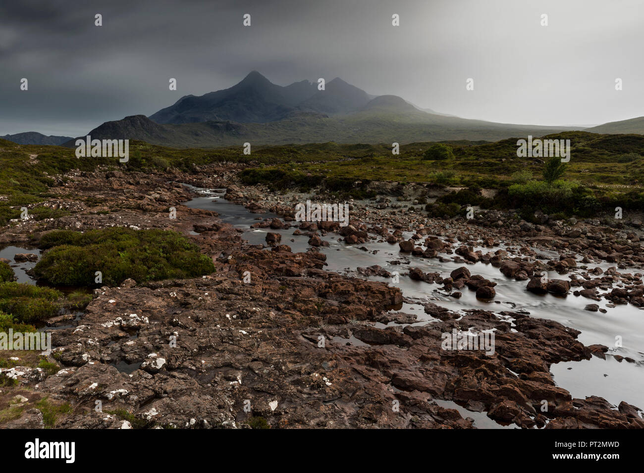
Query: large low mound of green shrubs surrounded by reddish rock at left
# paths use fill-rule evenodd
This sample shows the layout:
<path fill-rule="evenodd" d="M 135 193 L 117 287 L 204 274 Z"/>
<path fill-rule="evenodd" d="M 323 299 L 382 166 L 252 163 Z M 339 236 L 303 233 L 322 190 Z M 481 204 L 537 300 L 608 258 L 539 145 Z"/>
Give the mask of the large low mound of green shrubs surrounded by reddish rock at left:
<path fill-rule="evenodd" d="M 170 230 L 62 230 L 43 237 L 41 245 L 50 249 L 35 265 L 33 274 L 54 285 L 91 286 L 97 271 L 102 273 L 102 284 L 111 286 L 128 278 L 144 283 L 214 272 L 211 258 Z"/>

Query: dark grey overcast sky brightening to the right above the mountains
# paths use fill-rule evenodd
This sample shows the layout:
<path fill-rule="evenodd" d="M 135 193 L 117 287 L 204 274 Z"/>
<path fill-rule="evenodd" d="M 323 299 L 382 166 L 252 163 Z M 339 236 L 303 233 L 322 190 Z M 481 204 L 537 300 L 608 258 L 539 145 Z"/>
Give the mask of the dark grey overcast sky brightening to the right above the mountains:
<path fill-rule="evenodd" d="M 644 115 L 643 24 L 644 0 L 2 0 L 0 135 L 84 135 L 251 70 L 464 118 L 625 120 Z"/>

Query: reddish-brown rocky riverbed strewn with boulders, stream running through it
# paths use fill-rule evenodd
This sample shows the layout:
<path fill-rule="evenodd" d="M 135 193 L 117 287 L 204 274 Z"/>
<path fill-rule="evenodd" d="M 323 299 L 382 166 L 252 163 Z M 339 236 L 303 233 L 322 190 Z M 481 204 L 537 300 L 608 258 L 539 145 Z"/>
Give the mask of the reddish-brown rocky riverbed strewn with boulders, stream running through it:
<path fill-rule="evenodd" d="M 216 265 L 97 288 L 81 315 L 50 320 L 60 369 L 0 369 L 18 381 L 0 388 L 0 410 L 26 398 L 5 427 L 42 425 L 43 396 L 71 406 L 61 428 L 489 427 L 482 414 L 498 427 L 644 427 L 634 396 L 574 397 L 551 373 L 607 357 L 641 369 L 637 219 L 428 219 L 421 186 L 381 183 L 381 198 L 350 203 L 346 227 L 298 222 L 295 203 L 333 201 L 243 187 L 239 169 L 73 172 L 45 203 L 71 215 L 3 229 L 16 247 L 60 228 L 173 229 Z M 557 320 L 526 309 L 530 297 L 581 302 Z M 635 321 L 587 342 L 566 323 L 620 308 Z M 493 332 L 494 353 L 442 349 L 453 331 Z"/>

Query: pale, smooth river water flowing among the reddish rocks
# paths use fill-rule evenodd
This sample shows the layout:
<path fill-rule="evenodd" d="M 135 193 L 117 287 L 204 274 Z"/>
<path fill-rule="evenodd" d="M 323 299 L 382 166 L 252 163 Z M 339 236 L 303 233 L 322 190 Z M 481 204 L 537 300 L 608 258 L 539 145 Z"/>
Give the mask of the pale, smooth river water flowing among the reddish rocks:
<path fill-rule="evenodd" d="M 280 218 L 270 213 L 253 214 L 242 205 L 223 199 L 224 190 L 196 189 L 202 197 L 195 198 L 185 203 L 195 209 L 214 210 L 220 218 L 245 230 L 243 238 L 252 245 L 265 243 L 267 232 L 279 233 L 281 243 L 289 245 L 293 252 L 305 252 L 308 246 L 308 236 L 294 236 L 294 228 L 287 230 L 273 230 L 271 228 L 249 228 L 253 223 L 266 218 Z M 408 238 L 411 234 L 404 234 Z M 421 268 L 424 272 L 437 272 L 442 277 L 448 277 L 455 268 L 463 266 L 462 263 L 452 261 L 441 263 L 436 259 L 426 259 L 401 254 L 398 245 L 382 242 L 369 242 L 365 245 L 345 245 L 338 241 L 336 234 L 327 234 L 323 240 L 328 246 L 321 246 L 321 252 L 327 255 L 327 270 L 365 277 L 355 272 L 358 267 L 367 267 L 379 264 L 389 272 L 404 273 L 410 267 Z M 366 248 L 366 250 L 365 250 Z M 497 250 L 500 246 L 491 248 Z M 489 248 L 486 248 L 489 251 Z M 547 257 L 557 257 L 555 252 L 537 250 L 539 254 Z M 401 264 L 392 263 L 398 261 Z M 475 297 L 475 292 L 464 288 L 462 297 L 455 299 L 446 295 L 438 284 L 428 284 L 423 281 L 413 281 L 401 275 L 399 283 L 408 302 L 403 304 L 401 311 L 418 315 L 415 324 L 427 324 L 433 320 L 424 313 L 422 304 L 435 302 L 453 311 L 462 311 L 471 308 L 494 311 L 522 311 L 532 317 L 551 319 L 580 330 L 578 339 L 585 345 L 602 344 L 610 347 L 609 353 L 631 357 L 636 363 L 627 361 L 618 362 L 608 356 L 606 360 L 592 357 L 591 360 L 582 362 L 562 362 L 551 366 L 556 384 L 567 389 L 573 397 L 585 398 L 596 395 L 605 398 L 614 405 L 622 400 L 638 407 L 644 407 L 644 311 L 628 304 L 607 308 L 608 301 L 591 301 L 584 297 L 556 297 L 552 294 L 536 295 L 526 290 L 527 281 L 515 281 L 501 274 L 498 268 L 491 264 L 475 263 L 467 265 L 472 274 L 480 274 L 491 281 L 495 281 L 497 296 L 494 301 L 480 301 Z M 596 264 L 604 270 L 612 264 Z M 594 267 L 593 266 L 593 267 Z M 623 272 L 629 272 L 623 270 Z M 636 270 L 630 271 L 636 272 Z M 558 276 L 564 279 L 565 276 Z M 392 279 L 385 277 L 368 277 L 374 281 L 384 281 L 390 284 Z M 596 302 L 601 308 L 606 308 L 607 313 L 583 310 L 586 304 Z M 393 322 L 391 322 L 393 324 Z M 379 324 L 379 326 L 384 326 Z M 616 337 L 621 337 L 622 346 L 615 347 Z M 357 344 L 357 343 L 356 343 Z M 464 411 L 464 408 L 459 406 Z M 481 420 L 484 414 L 465 411 L 468 416 L 478 419 L 475 425 L 490 427 L 490 423 Z M 494 422 L 492 422 L 494 423 Z M 498 425 L 497 425 L 498 426 Z"/>

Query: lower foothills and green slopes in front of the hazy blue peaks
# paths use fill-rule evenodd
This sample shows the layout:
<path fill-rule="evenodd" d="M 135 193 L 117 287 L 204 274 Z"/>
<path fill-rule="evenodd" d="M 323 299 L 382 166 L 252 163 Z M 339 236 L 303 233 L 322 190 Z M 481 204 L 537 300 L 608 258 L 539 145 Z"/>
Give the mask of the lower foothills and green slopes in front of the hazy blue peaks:
<path fill-rule="evenodd" d="M 375 102 L 374 102 L 375 100 Z M 395 99 L 375 98 L 370 106 L 350 115 L 290 113 L 268 123 L 210 121 L 158 124 L 144 115 L 106 122 L 88 134 L 95 139 L 142 140 L 170 147 L 220 147 L 242 145 L 336 143 L 407 144 L 441 140 L 497 141 L 509 136 L 542 136 L 564 131 L 557 127 L 508 125 L 430 115 L 417 109 L 403 110 Z M 66 143 L 73 146 L 74 140 Z"/>

